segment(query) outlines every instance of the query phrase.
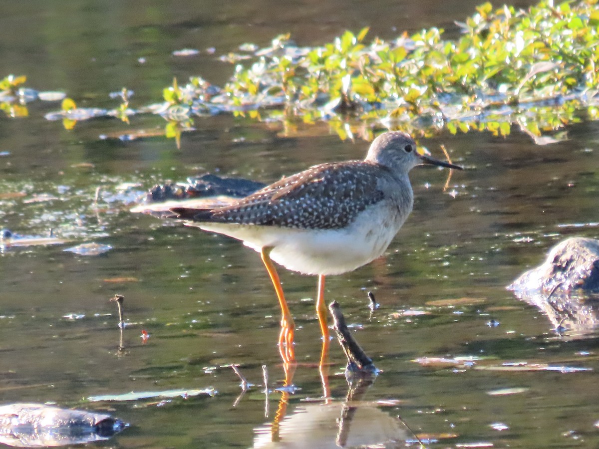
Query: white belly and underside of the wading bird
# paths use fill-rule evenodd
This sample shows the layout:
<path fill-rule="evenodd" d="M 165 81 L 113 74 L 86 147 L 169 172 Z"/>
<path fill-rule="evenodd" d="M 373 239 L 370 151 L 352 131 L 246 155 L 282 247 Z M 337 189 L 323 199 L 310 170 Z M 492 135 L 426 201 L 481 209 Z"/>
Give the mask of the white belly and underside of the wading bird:
<path fill-rule="evenodd" d="M 408 211 L 409 213 L 409 211 Z M 389 215 L 391 214 L 391 216 Z M 392 219 L 391 219 L 392 217 Z M 406 220 L 397 208 L 377 204 L 344 229 L 187 223 L 243 240 L 256 251 L 273 247 L 271 259 L 303 274 L 341 274 L 380 257 Z"/>

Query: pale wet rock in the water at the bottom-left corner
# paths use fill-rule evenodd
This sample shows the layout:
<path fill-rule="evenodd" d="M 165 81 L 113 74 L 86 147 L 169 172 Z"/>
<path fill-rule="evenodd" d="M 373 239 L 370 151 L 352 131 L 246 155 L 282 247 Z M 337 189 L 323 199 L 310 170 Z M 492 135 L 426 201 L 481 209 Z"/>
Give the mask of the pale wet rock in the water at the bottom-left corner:
<path fill-rule="evenodd" d="M 107 414 L 43 404 L 0 406 L 0 443 L 57 447 L 108 439 L 129 424 Z"/>

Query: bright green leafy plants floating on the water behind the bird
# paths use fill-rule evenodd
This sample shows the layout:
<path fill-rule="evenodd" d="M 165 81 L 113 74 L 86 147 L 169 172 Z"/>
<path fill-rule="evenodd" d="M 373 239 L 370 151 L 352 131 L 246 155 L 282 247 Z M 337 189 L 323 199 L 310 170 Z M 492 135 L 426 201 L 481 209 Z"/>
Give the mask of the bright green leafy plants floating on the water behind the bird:
<path fill-rule="evenodd" d="M 136 113 L 159 114 L 168 122 L 164 135 L 177 142 L 181 131 L 192 129 L 194 115 L 224 112 L 286 127 L 295 120 L 325 121 L 342 138 L 352 133 L 352 122 L 425 135 L 443 128 L 507 135 L 517 125 L 543 143 L 551 141 L 539 139 L 543 132 L 576 121 L 580 108 L 587 108 L 589 119 L 598 118 L 596 0 L 558 5 L 547 0 L 528 11 L 493 10 L 486 3 L 459 25 L 463 35 L 455 41 L 444 40 L 437 28 L 369 44 L 367 28 L 357 35 L 346 31 L 312 48 L 297 47 L 282 35 L 267 48 L 244 45 L 250 56 L 229 55 L 231 62 L 248 57 L 254 62 L 236 65 L 223 89 L 199 77 L 184 86 L 174 80 L 163 91 L 163 104 L 137 111 L 129 108 L 132 93 L 123 89 L 116 110 L 69 110 L 68 119 L 113 116 L 128 122 Z M 0 100 L 11 98 L 14 105 L 23 81 L 5 78 Z M 19 115 L 4 102 L 2 109 Z M 65 112 L 47 118 L 65 118 Z"/>

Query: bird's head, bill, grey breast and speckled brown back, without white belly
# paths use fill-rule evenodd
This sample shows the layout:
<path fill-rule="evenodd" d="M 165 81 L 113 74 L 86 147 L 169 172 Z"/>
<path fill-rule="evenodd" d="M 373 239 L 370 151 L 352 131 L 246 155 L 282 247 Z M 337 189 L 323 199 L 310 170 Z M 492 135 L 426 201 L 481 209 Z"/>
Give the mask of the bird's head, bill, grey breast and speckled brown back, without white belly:
<path fill-rule="evenodd" d="M 432 163 L 416 154 L 409 135 L 389 132 L 374 140 L 364 160 L 315 165 L 226 207 L 172 211 L 175 218 L 200 223 L 327 230 L 347 227 L 368 207 L 386 202 L 398 208 L 403 223 L 412 210 L 407 173 L 423 162 Z"/>

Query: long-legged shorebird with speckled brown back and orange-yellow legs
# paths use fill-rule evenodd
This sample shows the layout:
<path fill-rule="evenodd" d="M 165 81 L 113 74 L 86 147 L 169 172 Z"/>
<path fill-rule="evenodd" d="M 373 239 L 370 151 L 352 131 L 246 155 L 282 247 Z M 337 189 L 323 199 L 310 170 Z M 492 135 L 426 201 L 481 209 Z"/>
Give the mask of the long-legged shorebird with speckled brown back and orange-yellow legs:
<path fill-rule="evenodd" d="M 314 165 L 231 205 L 177 207 L 171 217 L 239 239 L 260 253 L 282 311 L 280 347 L 292 348 L 294 319 L 273 260 L 317 275 L 316 312 L 328 341 L 325 277 L 382 256 L 412 211 L 408 172 L 422 164 L 462 169 L 419 153 L 404 132 L 386 132 L 374 139 L 364 160 Z"/>

